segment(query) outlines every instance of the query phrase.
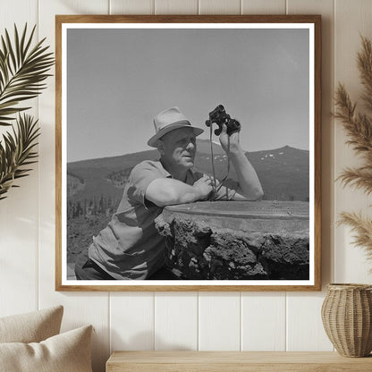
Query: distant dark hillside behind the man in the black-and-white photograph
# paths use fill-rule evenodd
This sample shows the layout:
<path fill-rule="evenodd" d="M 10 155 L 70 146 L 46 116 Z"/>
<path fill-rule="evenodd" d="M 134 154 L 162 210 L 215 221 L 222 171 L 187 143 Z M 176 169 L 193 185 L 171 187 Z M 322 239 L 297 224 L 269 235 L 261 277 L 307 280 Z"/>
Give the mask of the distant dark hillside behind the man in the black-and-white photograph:
<path fill-rule="evenodd" d="M 216 176 L 221 179 L 227 172 L 227 156 L 219 144 L 214 143 L 213 148 Z M 309 151 L 285 146 L 246 155 L 258 173 L 265 199 L 309 200 Z M 68 188 L 72 184 L 74 186 L 73 190 L 68 190 L 69 201 L 84 202 L 103 196 L 112 199 L 113 203 L 119 203 L 131 168 L 143 160 L 157 158 L 158 152 L 154 149 L 69 163 L 68 178 L 73 182 L 68 183 Z M 198 140 L 195 168 L 200 172 L 212 173 L 210 142 L 206 139 Z M 229 178 L 236 179 L 233 167 Z"/>

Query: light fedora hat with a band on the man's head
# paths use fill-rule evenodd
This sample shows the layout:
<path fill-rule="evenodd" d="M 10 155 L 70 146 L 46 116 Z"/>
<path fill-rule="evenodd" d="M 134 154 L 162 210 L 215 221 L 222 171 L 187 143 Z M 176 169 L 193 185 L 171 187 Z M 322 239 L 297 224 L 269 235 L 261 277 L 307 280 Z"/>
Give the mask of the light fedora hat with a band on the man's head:
<path fill-rule="evenodd" d="M 154 117 L 155 135 L 148 139 L 148 146 L 156 148 L 156 142 L 161 139 L 168 131 L 187 127 L 191 128 L 196 136 L 199 136 L 204 130 L 191 125 L 189 120 L 176 106 L 167 108 Z"/>

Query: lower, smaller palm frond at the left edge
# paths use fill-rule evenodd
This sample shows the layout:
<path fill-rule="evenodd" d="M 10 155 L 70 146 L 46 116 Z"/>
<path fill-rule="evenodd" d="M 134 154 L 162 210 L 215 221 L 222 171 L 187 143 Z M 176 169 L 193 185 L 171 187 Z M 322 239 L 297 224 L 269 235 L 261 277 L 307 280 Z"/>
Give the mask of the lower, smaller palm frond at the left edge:
<path fill-rule="evenodd" d="M 23 114 L 16 119 L 17 130 L 3 134 L 0 142 L 0 200 L 11 188 L 17 187 L 14 180 L 24 177 L 30 172 L 28 165 L 37 162 L 39 128 L 29 114 Z"/>

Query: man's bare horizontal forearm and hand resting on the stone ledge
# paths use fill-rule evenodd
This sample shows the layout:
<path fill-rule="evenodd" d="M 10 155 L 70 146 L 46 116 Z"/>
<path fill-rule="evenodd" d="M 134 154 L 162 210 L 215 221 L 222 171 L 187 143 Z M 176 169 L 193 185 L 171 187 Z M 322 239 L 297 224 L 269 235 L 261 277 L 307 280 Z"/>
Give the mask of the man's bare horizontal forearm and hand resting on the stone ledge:
<path fill-rule="evenodd" d="M 156 178 L 146 190 L 146 199 L 158 207 L 205 200 L 212 190 L 211 180 L 204 176 L 192 186 L 172 178 Z"/>

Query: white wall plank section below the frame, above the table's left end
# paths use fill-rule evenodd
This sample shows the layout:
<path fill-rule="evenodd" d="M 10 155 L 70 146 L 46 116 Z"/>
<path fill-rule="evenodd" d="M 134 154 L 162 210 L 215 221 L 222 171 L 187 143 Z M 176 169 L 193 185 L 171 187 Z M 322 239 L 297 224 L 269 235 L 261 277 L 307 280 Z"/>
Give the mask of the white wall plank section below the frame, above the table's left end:
<path fill-rule="evenodd" d="M 111 351 L 154 350 L 154 293 L 111 293 Z"/>

